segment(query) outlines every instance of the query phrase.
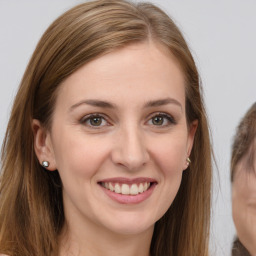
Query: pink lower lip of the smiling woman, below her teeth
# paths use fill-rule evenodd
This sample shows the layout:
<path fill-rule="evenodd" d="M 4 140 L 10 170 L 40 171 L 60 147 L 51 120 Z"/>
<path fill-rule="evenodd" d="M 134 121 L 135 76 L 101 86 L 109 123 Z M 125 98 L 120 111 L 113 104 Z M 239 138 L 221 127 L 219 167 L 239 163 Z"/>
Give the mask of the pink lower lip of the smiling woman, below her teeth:
<path fill-rule="evenodd" d="M 122 194 L 112 192 L 111 190 L 106 189 L 102 186 L 100 186 L 100 187 L 112 200 L 114 200 L 120 204 L 139 204 L 151 196 L 151 194 L 153 193 L 153 191 L 156 187 L 156 184 L 155 183 L 152 184 L 147 191 L 145 191 L 141 194 L 138 194 L 138 195 L 122 195 Z"/>

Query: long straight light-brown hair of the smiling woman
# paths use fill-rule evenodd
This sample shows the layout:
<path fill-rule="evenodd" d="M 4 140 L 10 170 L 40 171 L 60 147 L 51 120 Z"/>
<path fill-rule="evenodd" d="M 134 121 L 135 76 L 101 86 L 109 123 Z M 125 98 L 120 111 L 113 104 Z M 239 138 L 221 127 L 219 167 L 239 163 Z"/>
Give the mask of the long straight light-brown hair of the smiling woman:
<path fill-rule="evenodd" d="M 33 150 L 32 119 L 51 127 L 58 86 L 89 61 L 146 40 L 177 58 L 185 77 L 188 124 L 198 120 L 192 164 L 178 194 L 156 223 L 151 256 L 208 255 L 211 147 L 200 79 L 189 48 L 173 21 L 149 3 L 98 0 L 60 16 L 39 41 L 28 64 L 2 148 L 0 251 L 45 256 L 57 251 L 65 221 L 58 172 L 47 172 Z"/>

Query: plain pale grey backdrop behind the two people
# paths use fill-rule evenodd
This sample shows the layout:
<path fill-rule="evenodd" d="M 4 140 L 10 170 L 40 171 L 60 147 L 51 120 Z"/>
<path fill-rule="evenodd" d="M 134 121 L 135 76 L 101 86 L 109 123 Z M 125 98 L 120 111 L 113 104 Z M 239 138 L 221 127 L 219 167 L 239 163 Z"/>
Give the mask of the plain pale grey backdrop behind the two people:
<path fill-rule="evenodd" d="M 0 144 L 13 97 L 39 38 L 57 16 L 81 2 L 0 0 Z M 182 30 L 201 74 L 217 162 L 211 250 L 212 255 L 230 255 L 235 234 L 231 214 L 230 148 L 235 127 L 256 101 L 256 2 L 153 2 Z"/>

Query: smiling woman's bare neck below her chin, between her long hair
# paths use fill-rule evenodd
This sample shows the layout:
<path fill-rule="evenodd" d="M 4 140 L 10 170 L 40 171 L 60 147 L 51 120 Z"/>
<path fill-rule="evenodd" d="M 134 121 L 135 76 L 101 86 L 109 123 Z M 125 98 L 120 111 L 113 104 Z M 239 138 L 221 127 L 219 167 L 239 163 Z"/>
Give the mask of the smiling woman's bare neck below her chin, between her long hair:
<path fill-rule="evenodd" d="M 117 234 L 94 223 L 89 225 L 66 224 L 60 236 L 60 256 L 150 255 L 153 227 L 140 234 Z"/>

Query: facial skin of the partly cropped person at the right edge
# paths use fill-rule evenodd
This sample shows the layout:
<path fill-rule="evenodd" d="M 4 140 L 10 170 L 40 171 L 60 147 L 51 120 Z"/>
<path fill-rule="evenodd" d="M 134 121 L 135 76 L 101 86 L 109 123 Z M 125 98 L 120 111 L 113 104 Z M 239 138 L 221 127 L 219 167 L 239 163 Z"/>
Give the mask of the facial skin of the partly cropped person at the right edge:
<path fill-rule="evenodd" d="M 233 219 L 240 241 L 252 256 L 256 256 L 256 174 L 254 170 L 246 168 L 245 162 L 246 156 L 235 169 L 232 184 Z"/>

